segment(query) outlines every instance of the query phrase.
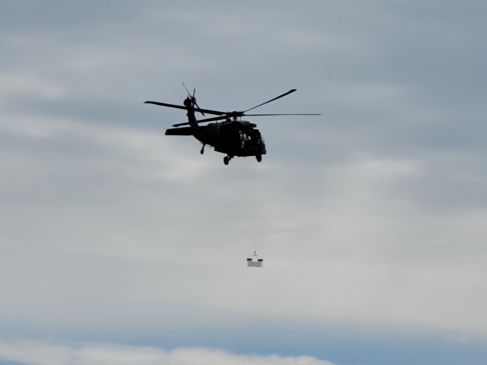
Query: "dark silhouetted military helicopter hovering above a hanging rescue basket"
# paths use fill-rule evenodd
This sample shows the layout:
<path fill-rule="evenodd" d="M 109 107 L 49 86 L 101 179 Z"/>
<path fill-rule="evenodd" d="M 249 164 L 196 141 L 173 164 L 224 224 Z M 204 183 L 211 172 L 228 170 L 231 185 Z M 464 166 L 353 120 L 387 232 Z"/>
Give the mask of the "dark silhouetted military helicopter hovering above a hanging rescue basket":
<path fill-rule="evenodd" d="M 172 127 L 166 129 L 166 135 L 170 136 L 193 136 L 198 141 L 201 142 L 203 147 L 200 153 L 205 152 L 205 146 L 211 146 L 215 151 L 225 153 L 226 156 L 223 159 L 225 165 L 234 158 L 237 157 L 248 157 L 255 156 L 258 162 L 262 161 L 262 155 L 266 154 L 264 139 L 259 129 L 256 129 L 257 125 L 242 120 L 243 116 L 268 116 L 268 115 L 321 115 L 321 114 L 245 114 L 249 110 L 258 108 L 264 104 L 270 103 L 271 101 L 277 100 L 283 96 L 296 91 L 297 89 L 291 89 L 283 94 L 276 96 L 274 99 L 268 100 L 265 103 L 259 104 L 253 108 L 244 111 L 218 111 L 218 110 L 208 110 L 202 109 L 196 103 L 196 98 L 194 94 L 196 89 L 193 89 L 193 94 L 191 95 L 187 90 L 187 98 L 181 105 L 159 103 L 156 101 L 146 101 L 148 104 L 160 105 L 163 107 L 186 109 L 187 110 L 187 122 L 174 124 Z M 195 112 L 200 112 L 203 116 L 205 113 L 218 115 L 217 117 L 206 118 L 196 120 Z M 217 122 L 219 120 L 225 120 L 224 122 Z M 199 123 L 205 122 L 216 122 L 209 123 L 206 126 L 199 126 Z M 182 127 L 188 126 L 189 127 Z M 180 128 L 182 127 L 182 128 Z"/>

